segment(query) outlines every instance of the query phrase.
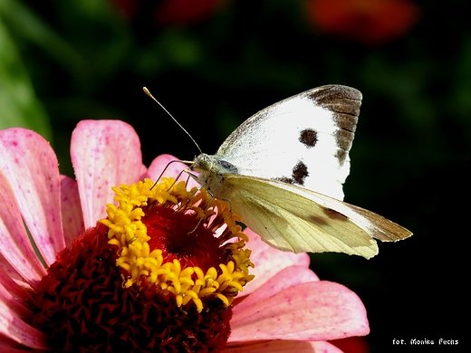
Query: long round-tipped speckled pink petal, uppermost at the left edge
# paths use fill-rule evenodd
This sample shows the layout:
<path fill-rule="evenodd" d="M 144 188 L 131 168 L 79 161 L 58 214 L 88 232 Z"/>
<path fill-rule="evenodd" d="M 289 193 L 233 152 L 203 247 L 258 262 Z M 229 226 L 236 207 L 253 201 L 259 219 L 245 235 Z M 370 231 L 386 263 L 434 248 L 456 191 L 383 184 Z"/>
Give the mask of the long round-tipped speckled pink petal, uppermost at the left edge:
<path fill-rule="evenodd" d="M 61 179 L 47 141 L 27 129 L 0 131 L 0 169 L 21 205 L 24 223 L 47 264 L 63 249 Z"/>

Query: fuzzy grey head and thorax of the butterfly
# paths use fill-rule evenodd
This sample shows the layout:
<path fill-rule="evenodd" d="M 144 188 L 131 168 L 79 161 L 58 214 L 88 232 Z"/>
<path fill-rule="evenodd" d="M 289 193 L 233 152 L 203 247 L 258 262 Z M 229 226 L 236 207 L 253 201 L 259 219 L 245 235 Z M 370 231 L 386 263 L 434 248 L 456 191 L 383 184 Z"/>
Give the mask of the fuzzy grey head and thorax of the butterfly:
<path fill-rule="evenodd" d="M 229 192 L 224 185 L 225 174 L 237 174 L 237 168 L 221 159 L 219 156 L 210 156 L 201 153 L 193 160 L 191 170 L 199 173 L 197 182 L 207 187 L 207 190 L 216 197 L 225 198 Z"/>

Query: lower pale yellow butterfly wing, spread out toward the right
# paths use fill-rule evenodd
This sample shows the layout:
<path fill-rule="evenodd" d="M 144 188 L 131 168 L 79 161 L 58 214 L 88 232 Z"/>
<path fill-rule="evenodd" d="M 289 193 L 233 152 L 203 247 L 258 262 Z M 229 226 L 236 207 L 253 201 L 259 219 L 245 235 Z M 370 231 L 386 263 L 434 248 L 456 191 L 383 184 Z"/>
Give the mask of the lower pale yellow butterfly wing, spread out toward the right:
<path fill-rule="evenodd" d="M 224 185 L 235 214 L 280 250 L 370 258 L 378 253 L 373 238 L 397 241 L 411 235 L 380 215 L 303 187 L 235 174 L 226 174 Z"/>

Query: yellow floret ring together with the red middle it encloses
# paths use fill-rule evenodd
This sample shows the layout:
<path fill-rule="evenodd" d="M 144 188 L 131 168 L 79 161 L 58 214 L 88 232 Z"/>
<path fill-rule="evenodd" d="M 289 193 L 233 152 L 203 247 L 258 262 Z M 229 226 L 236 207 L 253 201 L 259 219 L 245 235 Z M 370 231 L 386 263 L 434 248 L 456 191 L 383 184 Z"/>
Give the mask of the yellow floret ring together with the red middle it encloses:
<path fill-rule="evenodd" d="M 178 307 L 193 302 L 201 312 L 203 299 L 216 297 L 228 306 L 253 279 L 246 235 L 227 205 L 205 190 L 187 191 L 172 178 L 113 190 L 120 205 L 107 205 L 108 219 L 101 223 L 110 228 L 109 243 L 118 247 L 125 287 L 155 285 L 156 291 L 174 294 Z"/>

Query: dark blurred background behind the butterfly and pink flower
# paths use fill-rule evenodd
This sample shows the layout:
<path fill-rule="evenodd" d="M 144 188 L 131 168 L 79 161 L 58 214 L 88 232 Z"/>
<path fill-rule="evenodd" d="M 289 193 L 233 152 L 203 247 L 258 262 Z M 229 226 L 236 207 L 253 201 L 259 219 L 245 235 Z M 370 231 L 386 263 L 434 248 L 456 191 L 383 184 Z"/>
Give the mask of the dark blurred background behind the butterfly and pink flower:
<path fill-rule="evenodd" d="M 197 155 L 143 86 L 207 153 L 278 100 L 323 84 L 355 87 L 363 105 L 345 199 L 414 235 L 381 243 L 369 261 L 313 254 L 312 269 L 359 294 L 370 319 L 366 351 L 408 350 L 393 339 L 431 339 L 428 351 L 465 351 L 468 4 L 2 0 L 0 129 L 40 132 L 57 151 L 62 173 L 72 176 L 68 148 L 81 119 L 128 121 L 147 165 L 161 153 Z M 459 344 L 438 346 L 438 339 Z"/>

